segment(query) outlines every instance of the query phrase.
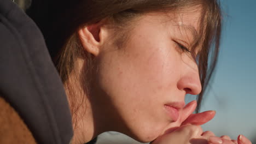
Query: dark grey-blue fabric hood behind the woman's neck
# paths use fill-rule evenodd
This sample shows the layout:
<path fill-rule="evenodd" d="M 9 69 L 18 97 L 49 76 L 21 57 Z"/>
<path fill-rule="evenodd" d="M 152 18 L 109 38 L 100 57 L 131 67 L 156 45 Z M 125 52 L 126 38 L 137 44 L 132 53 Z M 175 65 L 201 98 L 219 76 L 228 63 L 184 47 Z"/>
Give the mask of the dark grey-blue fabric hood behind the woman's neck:
<path fill-rule="evenodd" d="M 14 109 L 0 120 L 23 121 L 37 143 L 70 143 L 71 113 L 61 79 L 38 27 L 11 0 L 0 0 L 0 98 L 0 111 L 8 104 Z M 11 118 L 11 113 L 18 118 Z M 0 142 L 15 139 L 8 137 L 15 129 L 2 129 L 11 123 L 0 122 Z M 16 135 L 22 136 L 25 133 Z"/>

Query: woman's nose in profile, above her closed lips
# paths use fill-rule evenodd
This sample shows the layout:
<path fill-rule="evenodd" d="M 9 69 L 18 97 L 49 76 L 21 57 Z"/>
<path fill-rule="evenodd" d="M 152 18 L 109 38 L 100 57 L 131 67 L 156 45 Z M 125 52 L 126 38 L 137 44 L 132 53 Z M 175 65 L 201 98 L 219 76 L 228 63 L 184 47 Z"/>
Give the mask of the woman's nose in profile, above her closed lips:
<path fill-rule="evenodd" d="M 202 86 L 198 69 L 187 68 L 186 71 L 183 71 L 183 75 L 181 79 L 179 79 L 177 87 L 181 91 L 185 91 L 186 94 L 199 94 L 202 90 Z"/>

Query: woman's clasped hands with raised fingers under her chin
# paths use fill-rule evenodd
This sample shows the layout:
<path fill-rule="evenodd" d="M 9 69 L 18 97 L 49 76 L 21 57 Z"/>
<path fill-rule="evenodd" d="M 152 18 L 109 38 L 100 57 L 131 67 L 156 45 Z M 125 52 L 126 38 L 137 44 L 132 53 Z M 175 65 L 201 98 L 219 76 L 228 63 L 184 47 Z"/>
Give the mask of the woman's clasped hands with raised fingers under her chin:
<path fill-rule="evenodd" d="M 196 107 L 196 101 L 192 101 L 181 111 L 181 118 L 177 122 L 172 123 L 172 127 L 167 129 L 164 135 L 158 137 L 152 144 L 165 143 L 190 143 L 190 144 L 251 144 L 245 136 L 238 137 L 238 140 L 231 140 L 228 136 L 216 137 L 211 131 L 202 133 L 199 125 L 210 121 L 215 111 L 206 111 L 202 113 L 191 114 Z M 173 127 L 176 126 L 176 127 Z M 177 127 L 181 126 L 181 127 Z M 185 137 L 184 137 L 185 135 Z M 240 140 L 241 139 L 241 140 Z"/>

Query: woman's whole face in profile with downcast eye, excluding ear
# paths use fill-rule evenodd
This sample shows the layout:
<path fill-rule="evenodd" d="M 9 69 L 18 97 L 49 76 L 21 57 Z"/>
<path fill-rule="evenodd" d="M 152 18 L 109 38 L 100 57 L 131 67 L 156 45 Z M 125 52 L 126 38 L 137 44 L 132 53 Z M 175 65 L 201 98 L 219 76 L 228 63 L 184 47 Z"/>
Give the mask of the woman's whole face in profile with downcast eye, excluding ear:
<path fill-rule="evenodd" d="M 201 92 L 197 64 L 184 50 L 199 17 L 199 11 L 147 14 L 134 23 L 123 47 L 112 41 L 102 47 L 91 105 L 104 129 L 148 142 L 177 121 L 185 94 Z"/>

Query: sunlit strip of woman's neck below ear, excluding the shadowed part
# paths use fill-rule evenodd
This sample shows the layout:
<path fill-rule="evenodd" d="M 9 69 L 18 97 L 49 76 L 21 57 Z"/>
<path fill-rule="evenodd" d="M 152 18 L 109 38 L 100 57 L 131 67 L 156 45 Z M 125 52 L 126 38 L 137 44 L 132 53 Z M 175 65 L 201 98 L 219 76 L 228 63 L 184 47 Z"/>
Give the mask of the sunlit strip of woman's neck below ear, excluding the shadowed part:
<path fill-rule="evenodd" d="M 99 134 L 95 127 L 88 95 L 82 91 L 76 78 L 77 76 L 71 74 L 65 83 L 65 91 L 72 115 L 74 131 L 72 143 L 74 144 L 89 142 Z"/>

